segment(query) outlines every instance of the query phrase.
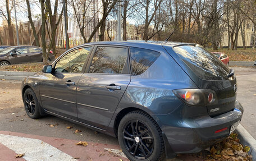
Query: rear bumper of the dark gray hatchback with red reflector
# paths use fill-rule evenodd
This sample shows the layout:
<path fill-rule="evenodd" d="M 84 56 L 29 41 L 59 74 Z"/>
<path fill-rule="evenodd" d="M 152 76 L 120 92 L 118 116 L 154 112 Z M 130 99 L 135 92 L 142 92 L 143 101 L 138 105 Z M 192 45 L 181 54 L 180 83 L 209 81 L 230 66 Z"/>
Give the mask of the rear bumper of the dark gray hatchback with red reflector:
<path fill-rule="evenodd" d="M 243 107 L 236 101 L 234 110 L 219 116 L 184 119 L 180 123 L 184 126 L 180 127 L 162 126 L 162 132 L 166 137 L 164 144 L 170 147 L 166 152 L 197 153 L 222 141 L 229 135 L 230 127 L 241 120 L 243 112 Z M 161 120 L 161 116 L 158 118 Z M 219 130 L 220 132 L 217 132 Z"/>

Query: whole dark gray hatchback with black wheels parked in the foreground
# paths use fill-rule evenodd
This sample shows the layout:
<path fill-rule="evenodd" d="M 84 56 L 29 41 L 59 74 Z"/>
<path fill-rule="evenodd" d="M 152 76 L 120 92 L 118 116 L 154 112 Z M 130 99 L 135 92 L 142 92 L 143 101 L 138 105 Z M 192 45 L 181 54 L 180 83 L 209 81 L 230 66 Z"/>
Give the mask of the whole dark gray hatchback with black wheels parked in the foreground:
<path fill-rule="evenodd" d="M 243 115 L 234 71 L 188 43 L 80 45 L 24 79 L 21 91 L 29 117 L 52 114 L 117 136 L 130 160 L 196 153 Z"/>

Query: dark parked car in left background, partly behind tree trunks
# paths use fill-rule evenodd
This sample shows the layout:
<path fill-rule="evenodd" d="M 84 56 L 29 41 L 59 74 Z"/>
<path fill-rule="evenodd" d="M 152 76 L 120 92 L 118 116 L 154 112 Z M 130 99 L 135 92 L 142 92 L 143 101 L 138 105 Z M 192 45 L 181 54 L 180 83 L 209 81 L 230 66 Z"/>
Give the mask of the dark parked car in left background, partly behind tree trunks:
<path fill-rule="evenodd" d="M 42 48 L 35 46 L 16 46 L 0 50 L 0 65 L 12 65 L 29 62 L 42 62 Z M 47 61 L 54 61 L 54 55 L 51 51 Z"/>

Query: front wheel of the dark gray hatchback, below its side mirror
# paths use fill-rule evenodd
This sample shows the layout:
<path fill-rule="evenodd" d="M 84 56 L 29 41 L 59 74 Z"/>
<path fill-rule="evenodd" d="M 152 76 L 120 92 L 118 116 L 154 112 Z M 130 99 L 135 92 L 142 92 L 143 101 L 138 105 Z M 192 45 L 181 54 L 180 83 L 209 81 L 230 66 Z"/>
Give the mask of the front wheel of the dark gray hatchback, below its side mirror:
<path fill-rule="evenodd" d="M 40 118 L 38 99 L 31 88 L 26 89 L 23 95 L 25 111 L 30 118 Z"/>

